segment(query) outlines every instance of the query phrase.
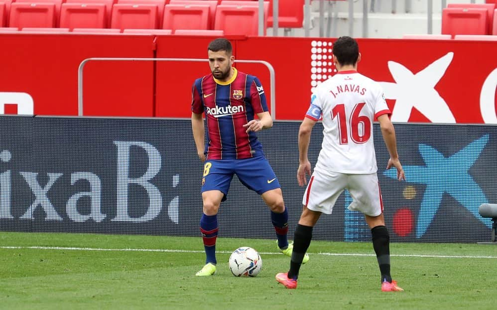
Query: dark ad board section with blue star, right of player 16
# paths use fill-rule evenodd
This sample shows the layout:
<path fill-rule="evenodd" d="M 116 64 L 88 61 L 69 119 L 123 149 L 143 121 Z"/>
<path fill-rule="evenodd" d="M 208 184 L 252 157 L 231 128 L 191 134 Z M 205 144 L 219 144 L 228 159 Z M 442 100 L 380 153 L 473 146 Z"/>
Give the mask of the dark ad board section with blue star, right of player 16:
<path fill-rule="evenodd" d="M 421 134 L 410 137 L 400 131 L 401 141 L 409 138 L 399 147 L 409 154 L 401 157 L 405 182 L 395 184 L 394 169 L 381 172 L 392 181 L 385 180 L 382 194 L 396 202 L 392 231 L 405 241 L 488 241 L 484 236 L 490 235 L 492 222 L 478 209 L 497 201 L 496 128 L 418 128 Z"/>

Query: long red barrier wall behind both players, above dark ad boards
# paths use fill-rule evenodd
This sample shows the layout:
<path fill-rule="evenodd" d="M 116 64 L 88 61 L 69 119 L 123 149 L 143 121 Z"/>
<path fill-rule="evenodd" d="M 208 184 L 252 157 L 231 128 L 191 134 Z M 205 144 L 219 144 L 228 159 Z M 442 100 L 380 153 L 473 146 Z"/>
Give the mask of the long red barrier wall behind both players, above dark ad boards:
<path fill-rule="evenodd" d="M 77 115 L 77 68 L 83 59 L 205 59 L 211 39 L 174 35 L 0 34 L 2 46 L 8 47 L 0 50 L 0 92 L 31 95 L 35 114 Z M 311 88 L 335 69 L 330 59 L 334 39 L 230 39 L 236 59 L 265 60 L 273 65 L 273 112 L 277 119 L 301 120 Z M 497 123 L 494 42 L 358 41 L 362 53 L 359 71 L 381 82 L 393 110 L 392 120 Z M 269 100 L 267 68 L 242 63 L 236 67 L 257 76 Z M 91 62 L 84 71 L 84 114 L 190 117 L 193 81 L 208 73 L 207 62 Z"/>

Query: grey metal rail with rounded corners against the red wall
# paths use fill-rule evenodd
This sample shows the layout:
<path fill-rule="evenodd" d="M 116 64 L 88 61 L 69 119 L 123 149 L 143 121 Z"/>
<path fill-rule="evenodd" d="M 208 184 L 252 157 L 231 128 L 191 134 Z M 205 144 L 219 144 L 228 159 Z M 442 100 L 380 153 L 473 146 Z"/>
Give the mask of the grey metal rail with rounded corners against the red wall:
<path fill-rule="evenodd" d="M 202 58 L 135 58 L 135 57 L 92 57 L 83 60 L 78 68 L 78 116 L 83 116 L 83 69 L 90 61 L 193 61 L 193 62 L 207 62 L 207 59 Z M 235 60 L 237 63 L 255 63 L 263 64 L 269 70 L 269 90 L 271 116 L 276 119 L 276 94 L 275 94 L 275 73 L 274 67 L 264 60 Z"/>

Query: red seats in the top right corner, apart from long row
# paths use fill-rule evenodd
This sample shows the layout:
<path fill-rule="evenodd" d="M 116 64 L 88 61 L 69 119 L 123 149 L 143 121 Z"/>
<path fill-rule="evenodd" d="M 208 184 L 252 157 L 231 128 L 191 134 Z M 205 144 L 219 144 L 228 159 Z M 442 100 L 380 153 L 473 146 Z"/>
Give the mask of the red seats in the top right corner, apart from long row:
<path fill-rule="evenodd" d="M 442 10 L 442 34 L 497 35 L 495 3 L 449 3 Z"/>

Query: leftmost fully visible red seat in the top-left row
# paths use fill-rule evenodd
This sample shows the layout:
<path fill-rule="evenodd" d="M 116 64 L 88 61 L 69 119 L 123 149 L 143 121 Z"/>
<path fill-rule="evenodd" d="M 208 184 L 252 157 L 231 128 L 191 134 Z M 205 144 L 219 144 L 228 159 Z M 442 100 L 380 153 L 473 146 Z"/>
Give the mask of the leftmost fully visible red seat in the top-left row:
<path fill-rule="evenodd" d="M 55 27 L 55 4 L 14 2 L 10 6 L 9 27 Z"/>

